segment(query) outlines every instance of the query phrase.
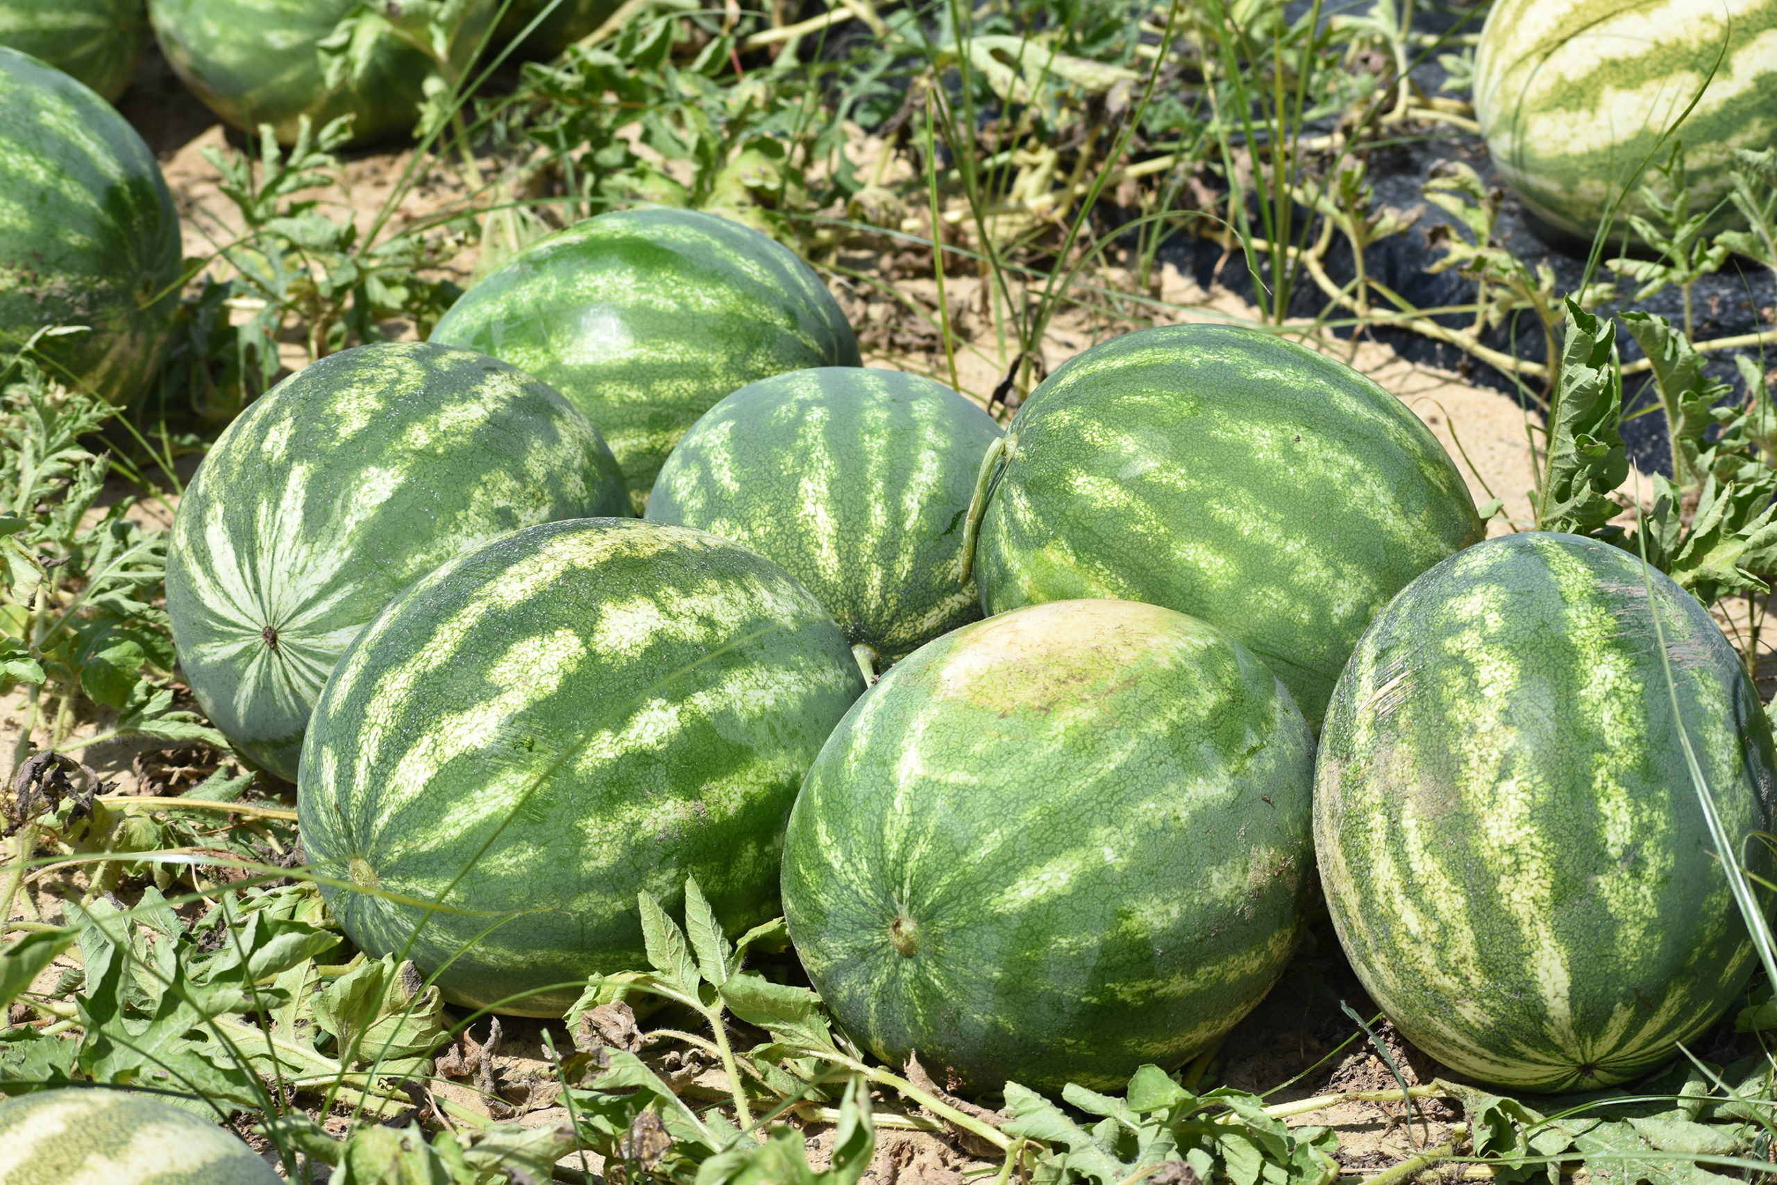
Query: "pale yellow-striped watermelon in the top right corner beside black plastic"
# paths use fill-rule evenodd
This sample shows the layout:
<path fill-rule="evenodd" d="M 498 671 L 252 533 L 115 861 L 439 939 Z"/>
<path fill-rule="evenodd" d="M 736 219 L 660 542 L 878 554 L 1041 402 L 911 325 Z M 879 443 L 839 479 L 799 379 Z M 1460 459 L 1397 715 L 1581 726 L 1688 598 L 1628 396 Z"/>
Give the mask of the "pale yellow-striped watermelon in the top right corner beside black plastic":
<path fill-rule="evenodd" d="M 1496 0 L 1475 53 L 1494 169 L 1587 240 L 1615 195 L 1637 210 L 1637 171 L 1699 91 L 1677 139 L 1706 211 L 1733 188 L 1736 147 L 1777 142 L 1777 0 Z"/>

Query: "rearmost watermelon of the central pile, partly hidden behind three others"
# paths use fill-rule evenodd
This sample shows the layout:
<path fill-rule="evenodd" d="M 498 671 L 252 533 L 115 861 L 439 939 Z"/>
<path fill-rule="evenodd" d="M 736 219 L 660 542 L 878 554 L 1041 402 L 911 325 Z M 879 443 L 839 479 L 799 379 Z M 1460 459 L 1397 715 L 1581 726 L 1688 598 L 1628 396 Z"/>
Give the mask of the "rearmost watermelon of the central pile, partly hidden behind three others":
<path fill-rule="evenodd" d="M 432 341 L 522 366 L 586 412 L 638 515 L 716 400 L 787 370 L 860 364 L 809 265 L 695 210 L 618 210 L 531 243 L 466 291 Z"/>

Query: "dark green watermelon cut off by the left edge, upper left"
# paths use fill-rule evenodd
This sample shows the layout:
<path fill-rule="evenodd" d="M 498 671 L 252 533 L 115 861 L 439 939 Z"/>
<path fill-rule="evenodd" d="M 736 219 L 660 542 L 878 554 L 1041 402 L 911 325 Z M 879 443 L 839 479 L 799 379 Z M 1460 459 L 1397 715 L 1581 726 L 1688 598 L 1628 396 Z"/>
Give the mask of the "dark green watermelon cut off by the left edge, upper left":
<path fill-rule="evenodd" d="M 179 219 L 160 165 L 110 103 L 0 46 L 0 357 L 123 402 L 160 370 L 179 307 Z"/>

